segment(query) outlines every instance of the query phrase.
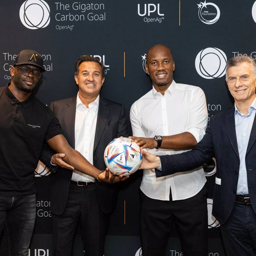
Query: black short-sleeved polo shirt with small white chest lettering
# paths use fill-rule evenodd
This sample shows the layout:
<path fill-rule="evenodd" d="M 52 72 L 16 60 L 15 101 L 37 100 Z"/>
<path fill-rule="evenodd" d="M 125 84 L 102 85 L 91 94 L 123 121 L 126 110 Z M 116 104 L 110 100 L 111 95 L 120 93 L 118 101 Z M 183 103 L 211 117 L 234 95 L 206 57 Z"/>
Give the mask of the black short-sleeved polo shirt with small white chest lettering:
<path fill-rule="evenodd" d="M 36 193 L 34 170 L 44 140 L 62 134 L 54 113 L 31 95 L 19 102 L 0 88 L 0 196 Z"/>

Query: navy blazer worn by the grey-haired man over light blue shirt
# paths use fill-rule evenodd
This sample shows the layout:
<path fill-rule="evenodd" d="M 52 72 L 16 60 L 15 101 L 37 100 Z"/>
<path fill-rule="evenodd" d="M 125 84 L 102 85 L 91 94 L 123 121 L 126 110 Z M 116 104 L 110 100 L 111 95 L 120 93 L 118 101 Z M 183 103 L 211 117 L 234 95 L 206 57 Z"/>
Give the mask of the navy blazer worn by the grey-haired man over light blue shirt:
<path fill-rule="evenodd" d="M 214 217 L 224 224 L 234 207 L 239 175 L 239 152 L 235 130 L 235 109 L 219 113 L 211 118 L 206 134 L 191 151 L 160 156 L 162 172 L 156 170 L 157 176 L 170 175 L 175 172 L 193 170 L 215 157 L 217 163 L 217 182 L 214 186 Z M 256 212 L 256 118 L 252 125 L 247 146 L 245 163 L 247 183 L 252 207 Z"/>

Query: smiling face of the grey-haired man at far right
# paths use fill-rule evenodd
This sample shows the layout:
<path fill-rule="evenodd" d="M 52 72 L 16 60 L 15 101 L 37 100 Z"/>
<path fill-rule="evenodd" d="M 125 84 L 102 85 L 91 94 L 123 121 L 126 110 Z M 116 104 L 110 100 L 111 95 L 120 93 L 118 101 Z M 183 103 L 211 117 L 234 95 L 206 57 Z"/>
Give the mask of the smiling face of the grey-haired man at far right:
<path fill-rule="evenodd" d="M 231 66 L 227 71 L 227 84 L 236 105 L 246 103 L 251 105 L 255 99 L 256 79 L 249 63 L 243 62 L 237 66 Z"/>

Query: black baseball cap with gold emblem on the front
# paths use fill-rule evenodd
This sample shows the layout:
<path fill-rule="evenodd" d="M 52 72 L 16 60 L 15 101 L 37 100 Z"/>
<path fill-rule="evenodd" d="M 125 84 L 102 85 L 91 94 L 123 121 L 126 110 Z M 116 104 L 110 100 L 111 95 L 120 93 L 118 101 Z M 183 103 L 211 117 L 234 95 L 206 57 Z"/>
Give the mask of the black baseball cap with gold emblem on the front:
<path fill-rule="evenodd" d="M 14 65 L 33 65 L 45 71 L 43 58 L 34 50 L 22 50 L 16 57 Z"/>

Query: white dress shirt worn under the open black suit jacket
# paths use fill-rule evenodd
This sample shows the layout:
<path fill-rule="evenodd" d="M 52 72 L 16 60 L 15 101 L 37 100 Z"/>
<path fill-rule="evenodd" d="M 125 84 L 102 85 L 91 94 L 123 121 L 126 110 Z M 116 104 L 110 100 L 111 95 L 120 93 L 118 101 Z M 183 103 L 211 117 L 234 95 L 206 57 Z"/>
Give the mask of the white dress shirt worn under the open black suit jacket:
<path fill-rule="evenodd" d="M 100 95 L 98 95 L 96 100 L 90 103 L 87 108 L 81 102 L 79 98 L 79 93 L 76 98 L 75 150 L 77 150 L 82 156 L 84 156 L 84 158 L 92 165 L 99 100 Z M 73 171 L 71 180 L 95 182 L 95 178 L 75 170 Z"/>

